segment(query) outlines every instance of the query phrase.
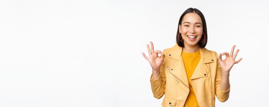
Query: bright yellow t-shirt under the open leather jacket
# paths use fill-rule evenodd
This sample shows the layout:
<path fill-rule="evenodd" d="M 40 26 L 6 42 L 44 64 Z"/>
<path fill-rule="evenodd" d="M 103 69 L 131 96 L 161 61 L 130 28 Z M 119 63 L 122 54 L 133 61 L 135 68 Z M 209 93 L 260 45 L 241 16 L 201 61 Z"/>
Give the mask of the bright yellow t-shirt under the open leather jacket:
<path fill-rule="evenodd" d="M 195 53 L 186 53 L 182 51 L 182 57 L 190 86 L 190 93 L 187 97 L 184 107 L 199 107 L 194 90 L 191 86 L 191 76 L 201 59 L 200 50 Z"/>

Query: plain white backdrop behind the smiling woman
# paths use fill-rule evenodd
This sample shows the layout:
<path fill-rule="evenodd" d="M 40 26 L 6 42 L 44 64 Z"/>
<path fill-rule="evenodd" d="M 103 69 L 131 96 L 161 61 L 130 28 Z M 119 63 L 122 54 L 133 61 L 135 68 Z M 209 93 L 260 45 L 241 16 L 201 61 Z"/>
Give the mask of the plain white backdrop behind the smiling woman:
<path fill-rule="evenodd" d="M 161 107 L 143 57 L 176 43 L 181 14 L 197 8 L 206 48 L 239 49 L 231 92 L 216 107 L 268 107 L 267 1 L 1 0 L 1 107 Z M 223 56 L 224 57 L 224 56 Z M 225 57 L 224 57 L 225 58 Z"/>

